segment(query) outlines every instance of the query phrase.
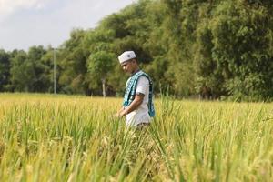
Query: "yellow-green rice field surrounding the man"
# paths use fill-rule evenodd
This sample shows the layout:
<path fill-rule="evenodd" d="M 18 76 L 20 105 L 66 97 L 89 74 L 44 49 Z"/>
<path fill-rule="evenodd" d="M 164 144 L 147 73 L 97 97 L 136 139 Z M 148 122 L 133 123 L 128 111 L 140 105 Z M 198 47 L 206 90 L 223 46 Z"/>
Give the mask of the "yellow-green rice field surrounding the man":
<path fill-rule="evenodd" d="M 143 130 L 121 98 L 0 95 L 0 181 L 273 181 L 273 104 L 157 98 Z"/>

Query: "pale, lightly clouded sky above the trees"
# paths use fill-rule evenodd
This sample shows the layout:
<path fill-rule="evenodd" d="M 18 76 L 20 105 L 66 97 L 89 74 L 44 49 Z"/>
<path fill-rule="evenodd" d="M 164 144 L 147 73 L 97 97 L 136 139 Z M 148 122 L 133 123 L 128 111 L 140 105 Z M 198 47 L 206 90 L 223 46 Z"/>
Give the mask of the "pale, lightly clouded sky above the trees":
<path fill-rule="evenodd" d="M 73 28 L 94 28 L 136 0 L 0 0 L 0 49 L 64 43 Z"/>

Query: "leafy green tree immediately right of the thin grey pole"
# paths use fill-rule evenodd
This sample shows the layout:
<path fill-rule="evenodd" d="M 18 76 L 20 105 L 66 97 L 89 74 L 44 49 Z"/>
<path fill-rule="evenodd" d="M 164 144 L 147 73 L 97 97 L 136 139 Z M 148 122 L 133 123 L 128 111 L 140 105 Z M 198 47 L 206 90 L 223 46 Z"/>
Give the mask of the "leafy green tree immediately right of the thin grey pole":
<path fill-rule="evenodd" d="M 86 82 L 86 60 L 90 53 L 88 47 L 83 45 L 85 36 L 84 30 L 74 29 L 70 38 L 57 51 L 57 66 L 60 70 L 58 84 L 63 93 L 89 93 Z"/>

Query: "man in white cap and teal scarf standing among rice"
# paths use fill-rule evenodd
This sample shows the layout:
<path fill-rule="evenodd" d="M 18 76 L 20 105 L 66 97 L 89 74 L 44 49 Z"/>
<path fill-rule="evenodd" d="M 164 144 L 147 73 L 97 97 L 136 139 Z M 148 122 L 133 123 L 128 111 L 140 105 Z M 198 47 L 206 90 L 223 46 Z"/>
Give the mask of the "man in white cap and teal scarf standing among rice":
<path fill-rule="evenodd" d="M 126 82 L 123 106 L 116 116 L 126 116 L 127 126 L 147 125 L 155 116 L 152 80 L 140 70 L 134 51 L 124 52 L 118 56 L 118 60 L 123 70 L 131 76 Z"/>

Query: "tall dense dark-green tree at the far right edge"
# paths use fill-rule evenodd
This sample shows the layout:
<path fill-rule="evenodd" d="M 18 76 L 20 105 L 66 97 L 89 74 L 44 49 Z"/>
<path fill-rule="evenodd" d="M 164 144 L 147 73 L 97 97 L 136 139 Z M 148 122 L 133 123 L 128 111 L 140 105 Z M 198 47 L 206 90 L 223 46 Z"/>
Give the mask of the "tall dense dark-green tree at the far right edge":
<path fill-rule="evenodd" d="M 210 20 L 212 61 L 217 73 L 226 77 L 222 86 L 233 99 L 272 97 L 273 19 L 270 14 L 262 4 L 228 1 L 217 6 Z"/>

